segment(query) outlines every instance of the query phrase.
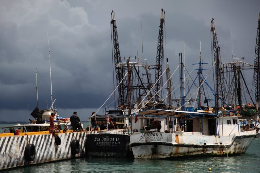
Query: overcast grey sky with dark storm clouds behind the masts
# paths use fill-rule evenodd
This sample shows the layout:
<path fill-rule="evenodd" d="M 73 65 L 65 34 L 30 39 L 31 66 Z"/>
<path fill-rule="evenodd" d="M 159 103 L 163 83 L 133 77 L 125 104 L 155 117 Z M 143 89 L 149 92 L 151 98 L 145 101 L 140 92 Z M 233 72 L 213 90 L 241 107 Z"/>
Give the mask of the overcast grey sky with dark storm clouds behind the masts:
<path fill-rule="evenodd" d="M 48 39 L 54 106 L 62 117 L 77 111 L 86 121 L 113 91 L 111 11 L 121 56 L 134 57 L 138 52 L 142 57 L 143 32 L 143 57 L 155 64 L 161 8 L 171 71 L 183 52 L 183 39 L 186 64 L 199 60 L 200 42 L 203 59 L 211 64 L 212 18 L 222 62 L 232 58 L 233 50 L 237 58 L 254 64 L 259 0 L 2 0 L 0 121 L 32 118 L 37 105 L 36 68 L 39 108 L 50 108 Z"/>

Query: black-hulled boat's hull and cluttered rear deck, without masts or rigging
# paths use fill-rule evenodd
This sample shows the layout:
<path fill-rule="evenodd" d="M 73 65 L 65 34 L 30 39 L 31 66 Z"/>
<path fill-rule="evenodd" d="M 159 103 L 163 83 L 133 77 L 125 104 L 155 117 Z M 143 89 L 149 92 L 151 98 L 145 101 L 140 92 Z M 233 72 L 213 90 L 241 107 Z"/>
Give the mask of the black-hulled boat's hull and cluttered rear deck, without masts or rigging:
<path fill-rule="evenodd" d="M 91 129 L 86 139 L 85 150 L 88 155 L 91 157 L 131 157 L 128 146 L 129 116 L 125 116 L 123 111 L 108 111 L 106 115 L 96 115 L 94 118 L 99 127 L 96 129 L 88 127 Z"/>

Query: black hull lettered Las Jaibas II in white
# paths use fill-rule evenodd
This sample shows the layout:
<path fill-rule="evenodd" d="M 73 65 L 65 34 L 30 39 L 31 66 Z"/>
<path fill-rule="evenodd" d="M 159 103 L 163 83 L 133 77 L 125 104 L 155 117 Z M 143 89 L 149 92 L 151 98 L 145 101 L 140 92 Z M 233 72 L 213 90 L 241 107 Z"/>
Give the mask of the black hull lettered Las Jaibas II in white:
<path fill-rule="evenodd" d="M 88 134 L 85 150 L 90 157 L 131 157 L 129 141 L 128 134 Z"/>

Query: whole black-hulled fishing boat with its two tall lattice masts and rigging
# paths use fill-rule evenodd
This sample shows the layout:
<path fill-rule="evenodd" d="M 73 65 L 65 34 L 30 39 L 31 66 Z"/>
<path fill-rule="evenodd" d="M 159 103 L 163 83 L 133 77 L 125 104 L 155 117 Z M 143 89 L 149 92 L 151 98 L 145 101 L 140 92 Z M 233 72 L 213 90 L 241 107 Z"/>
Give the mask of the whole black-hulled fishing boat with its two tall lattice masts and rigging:
<path fill-rule="evenodd" d="M 115 22 L 115 13 L 111 13 L 111 28 L 113 35 L 113 56 L 117 79 L 117 87 L 110 97 L 118 91 L 118 103 L 114 109 L 105 111 L 105 114 L 98 114 L 97 110 L 89 119 L 96 118 L 98 127 L 88 127 L 86 138 L 86 152 L 90 157 L 133 157 L 129 147 L 131 128 L 131 114 L 139 109 L 151 107 L 161 108 L 165 104 L 160 100 L 160 85 L 162 73 L 162 50 L 163 50 L 163 17 L 164 10 L 161 10 L 160 29 L 157 48 L 156 65 L 149 65 L 144 61 L 139 62 L 139 57 L 121 58 Z M 132 62 L 134 61 L 134 62 Z M 142 71 L 143 70 L 143 71 Z M 156 82 L 152 83 L 150 71 L 155 70 Z M 143 76 L 141 76 L 143 75 Z M 145 80 L 144 80 L 145 79 Z M 152 93 L 154 92 L 154 93 Z M 155 97 L 152 97 L 155 96 Z M 92 120 L 94 121 L 94 120 Z M 91 124 L 91 123 L 89 123 Z M 111 126 L 112 125 L 112 126 Z"/>

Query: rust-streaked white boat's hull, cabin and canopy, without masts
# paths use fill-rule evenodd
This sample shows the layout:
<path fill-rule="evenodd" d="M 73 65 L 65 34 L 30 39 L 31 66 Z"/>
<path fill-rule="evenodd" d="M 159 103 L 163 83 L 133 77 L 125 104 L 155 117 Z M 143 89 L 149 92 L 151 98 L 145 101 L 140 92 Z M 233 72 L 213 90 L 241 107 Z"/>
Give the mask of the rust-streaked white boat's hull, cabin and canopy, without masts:
<path fill-rule="evenodd" d="M 162 129 L 169 129 L 166 132 L 146 127 L 142 133 L 132 134 L 130 146 L 135 159 L 243 154 L 256 135 L 256 130 L 240 130 L 239 116 L 160 109 L 148 109 L 134 115 L 161 120 L 173 118 L 175 122 L 173 129 L 161 123 Z M 178 117 L 186 122 L 183 131 L 177 128 Z"/>

